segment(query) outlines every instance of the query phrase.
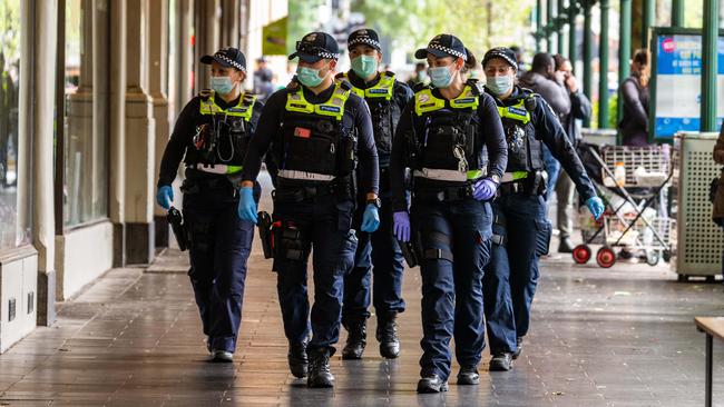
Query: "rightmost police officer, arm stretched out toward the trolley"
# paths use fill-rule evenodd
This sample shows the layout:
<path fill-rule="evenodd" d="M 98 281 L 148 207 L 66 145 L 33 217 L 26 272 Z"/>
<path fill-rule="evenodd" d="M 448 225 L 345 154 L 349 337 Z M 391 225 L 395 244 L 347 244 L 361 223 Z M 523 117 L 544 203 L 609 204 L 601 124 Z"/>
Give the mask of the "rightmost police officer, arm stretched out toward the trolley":
<path fill-rule="evenodd" d="M 551 227 L 546 219 L 544 145 L 576 183 L 595 218 L 604 205 L 573 145 L 546 101 L 515 86 L 516 53 L 493 48 L 482 59 L 486 91 L 496 98 L 508 143 L 508 167 L 493 202 L 491 259 L 483 278 L 490 341 L 490 370 L 509 370 L 520 355 L 530 325 L 538 282 L 538 258 L 548 252 Z"/>

